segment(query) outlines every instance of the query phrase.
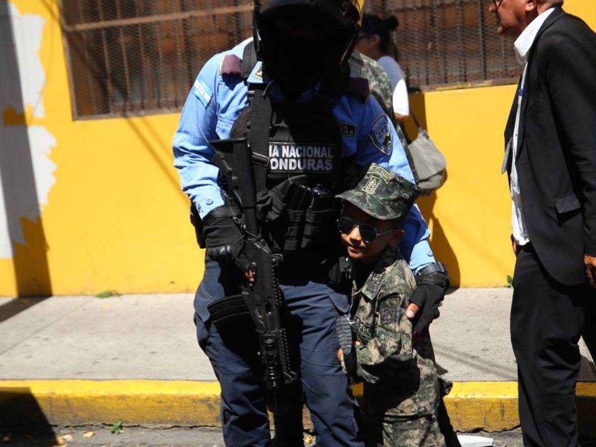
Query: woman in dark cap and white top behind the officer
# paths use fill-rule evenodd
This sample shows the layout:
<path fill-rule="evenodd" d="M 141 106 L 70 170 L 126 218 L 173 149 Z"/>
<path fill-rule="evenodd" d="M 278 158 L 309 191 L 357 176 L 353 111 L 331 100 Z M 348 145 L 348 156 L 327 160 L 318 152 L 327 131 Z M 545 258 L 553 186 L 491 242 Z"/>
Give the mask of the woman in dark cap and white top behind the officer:
<path fill-rule="evenodd" d="M 395 15 L 386 19 L 364 14 L 356 51 L 377 61 L 389 75 L 393 91 L 393 113 L 399 123 L 409 115 L 408 87 L 406 76 L 396 59 L 396 46 L 391 33 L 399 25 Z"/>

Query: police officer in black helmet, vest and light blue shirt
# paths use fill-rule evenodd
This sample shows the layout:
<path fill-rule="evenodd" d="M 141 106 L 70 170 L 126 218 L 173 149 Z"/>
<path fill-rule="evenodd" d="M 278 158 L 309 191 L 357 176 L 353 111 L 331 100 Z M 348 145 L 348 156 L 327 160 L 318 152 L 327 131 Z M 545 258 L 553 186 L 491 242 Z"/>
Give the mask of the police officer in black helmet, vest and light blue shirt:
<path fill-rule="evenodd" d="M 366 82 L 344 70 L 361 17 L 362 0 L 255 1 L 253 39 L 210 58 L 182 110 L 173 140 L 175 166 L 200 216 L 207 248 L 194 300 L 197 338 L 221 384 L 228 446 L 270 445 L 268 404 L 277 445 L 302 445 L 302 399 L 318 445 L 362 446 L 358 406 L 335 355 L 334 325 L 348 311 L 349 299 L 330 280 L 340 252 L 328 199 L 373 162 L 414 178 Z M 216 324 L 207 309 L 238 294 L 245 281 L 241 216 L 226 197 L 209 145 L 241 136 L 254 154 L 263 234 L 284 256 L 278 277 L 300 375 L 297 386 L 269 402 L 254 325 Z M 401 250 L 412 271 L 436 275 L 429 231 L 417 207 L 405 230 Z M 434 316 L 444 288 L 427 281 L 417 289 L 421 312 Z"/>

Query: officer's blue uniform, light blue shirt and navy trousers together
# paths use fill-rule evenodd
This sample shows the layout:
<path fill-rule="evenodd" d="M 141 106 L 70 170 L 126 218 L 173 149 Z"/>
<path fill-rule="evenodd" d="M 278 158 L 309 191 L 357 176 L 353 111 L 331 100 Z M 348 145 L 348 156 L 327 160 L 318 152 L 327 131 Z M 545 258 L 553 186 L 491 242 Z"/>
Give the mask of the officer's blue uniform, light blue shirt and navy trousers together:
<path fill-rule="evenodd" d="M 174 163 L 182 190 L 193 201 L 201 218 L 224 204 L 218 185 L 219 171 L 211 163 L 213 150 L 208 141 L 229 138 L 232 124 L 249 106 L 246 83 L 238 76 L 222 74 L 222 63 L 226 55 L 242 58 L 244 46 L 251 40 L 207 61 L 188 95 L 173 139 Z M 258 64 L 248 82 L 263 82 Z M 272 86 L 270 94 L 272 100 L 283 101 L 283 95 L 275 87 Z M 315 89 L 305 92 L 299 101 L 308 102 L 315 92 Z M 342 157 L 353 157 L 359 166 L 378 163 L 414 182 L 400 139 L 373 97 L 363 102 L 352 95 L 343 95 L 334 105 L 333 116 L 340 127 L 351 129 L 342 132 Z M 434 262 L 427 241 L 429 231 L 417 207 L 406 218 L 404 229 L 400 249 L 412 271 L 417 272 Z M 337 361 L 339 345 L 334 336 L 336 317 L 348 311 L 349 299 L 332 290 L 320 269 L 305 261 L 299 266 L 284 263 L 278 275 L 291 315 L 288 339 L 300 352 L 302 392 L 311 411 L 317 445 L 361 446 L 355 420 L 357 404 Z M 241 281 L 239 272 L 206 257 L 203 280 L 194 300 L 197 337 L 221 383 L 226 445 L 265 446 L 269 445 L 266 390 L 257 355 L 258 340 L 254 327 L 250 327 L 252 322 L 247 322 L 246 327 L 235 325 L 233 331 L 224 333 L 211 324 L 207 311 L 210 302 L 237 293 Z M 294 401 L 294 409 L 302 409 L 300 396 L 288 393 L 286 399 Z M 283 412 L 283 405 L 279 408 Z"/>

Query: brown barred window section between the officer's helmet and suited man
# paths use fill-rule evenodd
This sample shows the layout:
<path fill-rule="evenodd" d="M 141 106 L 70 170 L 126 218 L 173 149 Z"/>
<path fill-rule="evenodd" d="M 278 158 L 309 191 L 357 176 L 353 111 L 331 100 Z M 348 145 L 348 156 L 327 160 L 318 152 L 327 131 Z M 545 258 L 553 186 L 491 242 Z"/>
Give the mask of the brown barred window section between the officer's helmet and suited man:
<path fill-rule="evenodd" d="M 398 61 L 411 88 L 517 82 L 513 39 L 496 34 L 487 0 L 370 0 L 367 10 L 395 15 Z"/>

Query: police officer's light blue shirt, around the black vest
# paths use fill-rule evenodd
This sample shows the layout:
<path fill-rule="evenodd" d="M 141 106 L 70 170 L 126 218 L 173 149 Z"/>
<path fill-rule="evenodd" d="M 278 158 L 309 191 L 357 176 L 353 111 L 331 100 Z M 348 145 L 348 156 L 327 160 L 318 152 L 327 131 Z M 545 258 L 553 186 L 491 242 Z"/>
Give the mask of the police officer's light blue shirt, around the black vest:
<path fill-rule="evenodd" d="M 207 61 L 191 88 L 174 135 L 174 166 L 180 175 L 182 191 L 193 201 L 201 218 L 224 204 L 217 181 L 219 170 L 211 163 L 213 149 L 209 141 L 229 138 L 232 124 L 249 105 L 246 84 L 240 77 L 222 76 L 221 64 L 226 54 L 242 58 L 244 46 L 251 41 L 247 39 Z M 263 82 L 258 69 L 256 66 L 249 82 Z M 305 92 L 299 100 L 308 101 L 313 92 Z M 279 91 L 274 90 L 271 95 L 273 100 L 283 101 Z M 355 132 L 342 132 L 343 156 L 354 156 L 359 166 L 378 163 L 414 182 L 401 141 L 372 95 L 366 103 L 353 95 L 344 95 L 337 101 L 333 114 L 340 126 L 355 129 Z M 428 243 L 430 232 L 417 206 L 412 207 L 403 229 L 405 235 L 399 248 L 416 273 L 434 262 Z"/>

